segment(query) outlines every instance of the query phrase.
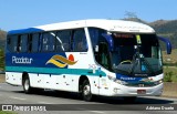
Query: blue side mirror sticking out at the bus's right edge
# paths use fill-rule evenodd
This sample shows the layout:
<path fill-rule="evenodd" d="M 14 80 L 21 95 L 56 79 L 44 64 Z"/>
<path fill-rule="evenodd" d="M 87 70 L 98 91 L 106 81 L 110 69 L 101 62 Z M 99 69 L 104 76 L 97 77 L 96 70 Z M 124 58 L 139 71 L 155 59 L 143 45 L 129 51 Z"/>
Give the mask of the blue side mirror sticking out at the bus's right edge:
<path fill-rule="evenodd" d="M 171 53 L 171 43 L 167 38 L 158 37 L 158 39 L 166 43 L 167 54 Z"/>

